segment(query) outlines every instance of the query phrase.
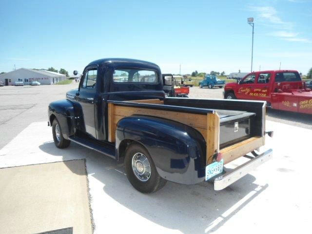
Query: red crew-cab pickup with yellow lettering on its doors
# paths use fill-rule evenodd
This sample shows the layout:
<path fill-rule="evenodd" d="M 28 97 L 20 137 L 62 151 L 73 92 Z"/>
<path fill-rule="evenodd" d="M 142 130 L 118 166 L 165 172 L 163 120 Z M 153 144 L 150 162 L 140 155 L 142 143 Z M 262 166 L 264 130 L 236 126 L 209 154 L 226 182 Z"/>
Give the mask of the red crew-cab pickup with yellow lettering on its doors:
<path fill-rule="evenodd" d="M 263 100 L 272 109 L 312 114 L 312 91 L 294 70 L 252 72 L 227 83 L 224 98 Z"/>

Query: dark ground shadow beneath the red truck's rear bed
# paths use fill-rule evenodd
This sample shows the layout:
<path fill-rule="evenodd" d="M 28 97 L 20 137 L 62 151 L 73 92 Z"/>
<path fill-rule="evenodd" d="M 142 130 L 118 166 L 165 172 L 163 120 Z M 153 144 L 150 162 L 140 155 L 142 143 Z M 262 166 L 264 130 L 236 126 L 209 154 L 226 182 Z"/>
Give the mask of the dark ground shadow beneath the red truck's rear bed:
<path fill-rule="evenodd" d="M 287 124 L 297 126 L 299 123 L 312 125 L 311 115 L 295 113 L 289 111 L 280 111 L 274 109 L 267 109 L 268 120 L 280 122 L 281 119 L 288 121 Z"/>

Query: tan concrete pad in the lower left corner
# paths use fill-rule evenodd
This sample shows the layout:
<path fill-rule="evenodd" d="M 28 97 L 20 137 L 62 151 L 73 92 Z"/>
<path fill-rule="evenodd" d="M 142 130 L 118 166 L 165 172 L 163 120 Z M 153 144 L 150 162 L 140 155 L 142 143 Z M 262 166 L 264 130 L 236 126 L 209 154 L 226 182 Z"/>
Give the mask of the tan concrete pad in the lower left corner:
<path fill-rule="evenodd" d="M 1 233 L 91 234 L 84 160 L 0 169 Z"/>

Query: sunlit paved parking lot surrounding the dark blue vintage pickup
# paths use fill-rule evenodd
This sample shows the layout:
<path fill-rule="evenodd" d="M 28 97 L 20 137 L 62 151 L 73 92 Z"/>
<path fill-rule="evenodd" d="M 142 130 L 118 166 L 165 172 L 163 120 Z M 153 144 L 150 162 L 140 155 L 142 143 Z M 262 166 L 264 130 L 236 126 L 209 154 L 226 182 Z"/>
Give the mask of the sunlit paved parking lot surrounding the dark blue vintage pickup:
<path fill-rule="evenodd" d="M 48 103 L 77 86 L 0 87 L 0 168 L 85 158 L 95 233 L 310 230 L 311 117 L 268 110 L 266 127 L 274 137 L 267 137 L 265 148 L 273 148 L 273 160 L 223 191 L 207 182 L 168 182 L 157 193 L 143 195 L 130 185 L 121 163 L 75 143 L 64 150 L 54 146 Z M 222 98 L 222 89 L 193 87 L 190 92 L 191 98 Z"/>

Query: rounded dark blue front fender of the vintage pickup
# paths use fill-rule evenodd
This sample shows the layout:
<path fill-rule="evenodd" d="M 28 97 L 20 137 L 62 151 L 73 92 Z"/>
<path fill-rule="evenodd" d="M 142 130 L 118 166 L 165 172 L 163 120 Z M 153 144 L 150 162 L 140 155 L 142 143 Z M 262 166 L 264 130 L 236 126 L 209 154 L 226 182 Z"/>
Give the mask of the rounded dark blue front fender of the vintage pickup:
<path fill-rule="evenodd" d="M 68 139 L 75 134 L 79 114 L 72 101 L 64 99 L 51 102 L 48 107 L 48 117 L 51 126 L 53 119 L 57 118 L 64 138 Z"/>

